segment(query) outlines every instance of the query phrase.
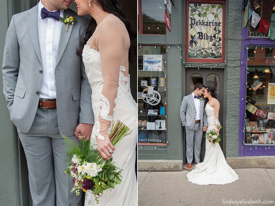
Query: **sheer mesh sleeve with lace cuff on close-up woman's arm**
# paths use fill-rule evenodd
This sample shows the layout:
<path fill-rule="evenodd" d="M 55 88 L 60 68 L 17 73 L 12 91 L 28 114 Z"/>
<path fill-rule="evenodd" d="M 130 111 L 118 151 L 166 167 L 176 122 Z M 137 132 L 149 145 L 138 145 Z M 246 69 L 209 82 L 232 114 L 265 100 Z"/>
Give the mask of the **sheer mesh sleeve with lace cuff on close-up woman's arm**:
<path fill-rule="evenodd" d="M 123 54 L 123 30 L 117 22 L 105 22 L 98 34 L 97 46 L 100 52 L 103 88 L 100 96 L 100 115 L 97 122 L 99 139 L 108 138 L 115 112 L 119 86 L 119 68 Z"/>

